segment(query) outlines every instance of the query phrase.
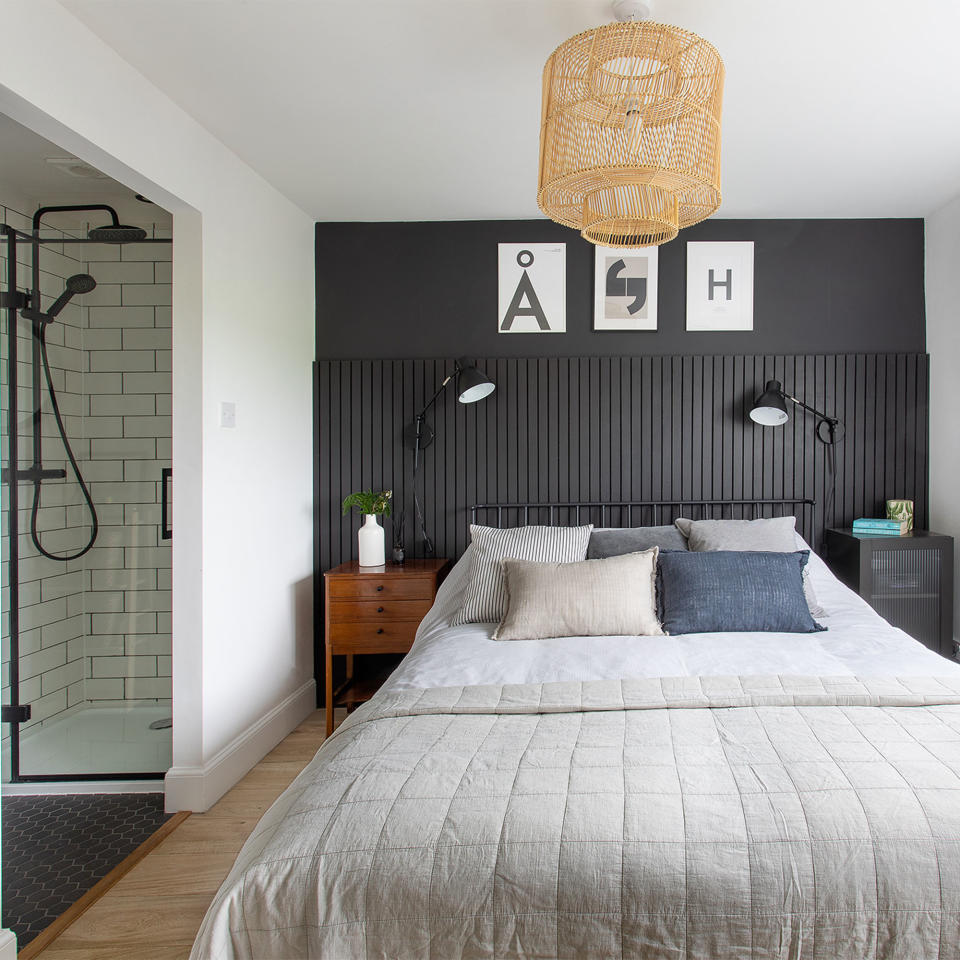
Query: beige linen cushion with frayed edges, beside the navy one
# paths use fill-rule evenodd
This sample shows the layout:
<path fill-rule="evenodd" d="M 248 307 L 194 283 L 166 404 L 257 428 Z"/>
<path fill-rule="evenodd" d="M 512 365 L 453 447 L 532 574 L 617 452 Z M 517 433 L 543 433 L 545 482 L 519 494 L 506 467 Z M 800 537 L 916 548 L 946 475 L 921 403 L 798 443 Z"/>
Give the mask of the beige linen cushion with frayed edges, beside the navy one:
<path fill-rule="evenodd" d="M 663 636 L 657 547 L 579 563 L 503 561 L 507 612 L 494 640 Z"/>

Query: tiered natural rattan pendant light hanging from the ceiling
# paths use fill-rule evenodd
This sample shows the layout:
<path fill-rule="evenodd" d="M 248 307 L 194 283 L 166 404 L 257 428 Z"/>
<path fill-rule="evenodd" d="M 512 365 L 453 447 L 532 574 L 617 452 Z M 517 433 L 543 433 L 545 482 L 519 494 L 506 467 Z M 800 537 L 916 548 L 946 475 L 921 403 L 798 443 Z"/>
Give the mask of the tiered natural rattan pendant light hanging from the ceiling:
<path fill-rule="evenodd" d="M 537 203 L 591 243 L 643 247 L 720 206 L 723 61 L 639 0 L 614 10 L 544 67 Z"/>

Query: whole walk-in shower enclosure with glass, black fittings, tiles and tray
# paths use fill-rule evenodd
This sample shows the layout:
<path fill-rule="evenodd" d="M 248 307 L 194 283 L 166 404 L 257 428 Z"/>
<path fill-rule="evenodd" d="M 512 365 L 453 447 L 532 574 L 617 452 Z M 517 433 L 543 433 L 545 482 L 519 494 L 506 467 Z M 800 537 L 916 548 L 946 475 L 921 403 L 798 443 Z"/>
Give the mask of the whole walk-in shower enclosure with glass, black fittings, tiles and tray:
<path fill-rule="evenodd" d="M 0 214 L 3 781 L 160 777 L 171 238 L 105 204 Z"/>

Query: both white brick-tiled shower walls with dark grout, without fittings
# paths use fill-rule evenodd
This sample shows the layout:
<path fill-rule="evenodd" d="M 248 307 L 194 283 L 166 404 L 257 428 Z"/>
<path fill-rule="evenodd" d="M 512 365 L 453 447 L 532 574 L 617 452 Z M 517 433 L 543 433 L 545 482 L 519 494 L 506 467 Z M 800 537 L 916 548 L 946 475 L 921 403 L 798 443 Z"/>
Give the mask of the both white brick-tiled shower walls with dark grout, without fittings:
<path fill-rule="evenodd" d="M 11 226 L 29 230 L 26 215 L 5 207 L 0 214 Z M 0 244 L 0 256 L 5 247 Z M 171 446 L 170 254 L 169 244 L 57 244 L 41 252 L 43 307 L 74 273 L 90 273 L 97 281 L 48 328 L 48 343 L 61 411 L 97 506 L 100 533 L 79 560 L 40 556 L 29 537 L 32 489 L 20 485 L 20 699 L 32 705 L 31 723 L 85 700 L 171 695 L 170 541 L 159 536 L 160 471 L 170 465 Z M 28 245 L 19 247 L 21 289 L 30 285 L 30 255 Z M 5 262 L 2 269 L 6 289 Z M 3 311 L 4 337 L 5 324 Z M 18 343 L 23 466 L 32 459 L 33 407 L 31 337 L 24 321 Z M 5 412 L 5 339 L 2 354 Z M 42 409 L 44 466 L 69 471 L 45 390 Z M 5 438 L 5 418 L 2 433 Z M 3 453 L 6 462 L 5 447 Z M 66 553 L 86 542 L 89 516 L 72 474 L 66 481 L 44 481 L 41 503 L 41 541 L 48 550 Z M 6 485 L 2 506 L 6 537 Z M 6 540 L 2 548 L 6 588 Z M 6 609 L 2 630 L 6 700 Z"/>

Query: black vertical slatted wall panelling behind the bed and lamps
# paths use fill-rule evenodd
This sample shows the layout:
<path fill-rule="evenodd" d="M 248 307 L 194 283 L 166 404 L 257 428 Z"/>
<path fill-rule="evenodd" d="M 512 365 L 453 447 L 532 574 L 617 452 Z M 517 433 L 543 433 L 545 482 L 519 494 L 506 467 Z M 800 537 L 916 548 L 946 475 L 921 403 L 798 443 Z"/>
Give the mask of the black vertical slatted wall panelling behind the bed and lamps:
<path fill-rule="evenodd" d="M 627 521 L 650 524 L 670 522 L 667 507 L 680 504 L 794 512 L 802 503 L 801 532 L 815 549 L 826 525 L 875 516 L 891 497 L 913 499 L 917 525 L 927 525 L 925 354 L 474 359 L 496 391 L 463 405 L 448 390 L 428 417 L 436 440 L 420 483 L 438 556 L 466 548 L 475 504 L 633 503 Z M 316 364 L 318 570 L 356 556 L 360 517 L 341 517 L 340 503 L 367 487 L 394 490 L 388 538 L 406 504 L 405 546 L 417 555 L 403 429 L 453 364 Z M 812 418 L 794 410 L 765 428 L 747 416 L 773 378 L 844 422 L 833 505 Z"/>

